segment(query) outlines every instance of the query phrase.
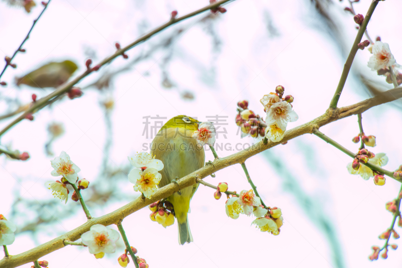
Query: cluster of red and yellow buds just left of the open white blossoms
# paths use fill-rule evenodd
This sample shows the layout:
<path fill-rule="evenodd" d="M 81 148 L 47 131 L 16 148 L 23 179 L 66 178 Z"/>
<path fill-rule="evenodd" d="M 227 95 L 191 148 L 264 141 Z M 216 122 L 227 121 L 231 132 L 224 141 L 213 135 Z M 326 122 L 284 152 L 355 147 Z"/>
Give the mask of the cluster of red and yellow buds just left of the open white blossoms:
<path fill-rule="evenodd" d="M 239 107 L 239 114 L 236 116 L 236 125 L 240 127 L 242 137 L 248 134 L 253 138 L 257 138 L 258 135 L 264 137 L 265 127 L 261 124 L 264 120 L 248 109 L 248 101 L 238 102 L 237 106 Z"/>

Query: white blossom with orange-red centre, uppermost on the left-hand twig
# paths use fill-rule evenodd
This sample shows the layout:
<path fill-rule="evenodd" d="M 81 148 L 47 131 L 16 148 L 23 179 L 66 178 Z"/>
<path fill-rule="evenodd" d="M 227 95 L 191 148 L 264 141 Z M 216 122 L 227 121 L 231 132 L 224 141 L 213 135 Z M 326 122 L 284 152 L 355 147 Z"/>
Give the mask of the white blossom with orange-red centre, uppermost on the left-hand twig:
<path fill-rule="evenodd" d="M 78 180 L 78 172 L 81 169 L 70 160 L 70 156 L 62 151 L 60 156 L 50 160 L 54 170 L 50 173 L 52 176 L 63 176 L 70 184 L 75 184 Z"/>

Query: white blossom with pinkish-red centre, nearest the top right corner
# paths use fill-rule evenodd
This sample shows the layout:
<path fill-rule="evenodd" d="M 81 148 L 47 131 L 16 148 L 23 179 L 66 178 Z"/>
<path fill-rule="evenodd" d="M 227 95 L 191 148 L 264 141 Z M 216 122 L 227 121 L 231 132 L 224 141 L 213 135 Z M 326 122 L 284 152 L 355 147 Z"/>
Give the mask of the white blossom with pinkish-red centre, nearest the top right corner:
<path fill-rule="evenodd" d="M 371 48 L 373 55 L 368 60 L 367 66 L 372 71 L 384 69 L 395 64 L 395 58 L 389 50 L 387 43 L 376 41 Z"/>

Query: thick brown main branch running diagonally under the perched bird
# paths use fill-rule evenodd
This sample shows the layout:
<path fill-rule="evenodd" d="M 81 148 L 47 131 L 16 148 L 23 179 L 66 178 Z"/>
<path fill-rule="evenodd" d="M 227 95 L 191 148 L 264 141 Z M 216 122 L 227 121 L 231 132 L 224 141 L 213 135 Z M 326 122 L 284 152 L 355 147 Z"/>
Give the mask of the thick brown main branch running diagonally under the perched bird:
<path fill-rule="evenodd" d="M 179 189 L 183 189 L 188 186 L 192 186 L 196 183 L 197 178 L 204 178 L 212 173 L 221 170 L 225 167 L 234 164 L 241 164 L 246 159 L 254 156 L 264 150 L 272 148 L 276 145 L 281 144 L 282 142 L 291 140 L 295 137 L 313 133 L 315 129 L 318 129 L 324 125 L 327 125 L 331 122 L 337 121 L 339 119 L 349 117 L 351 115 L 356 115 L 358 113 L 363 113 L 364 111 L 370 109 L 371 107 L 388 103 L 394 101 L 398 98 L 402 97 L 402 87 L 396 87 L 392 90 L 384 92 L 374 98 L 362 101 L 360 103 L 339 108 L 339 109 L 328 109 L 327 112 L 298 127 L 292 128 L 285 132 L 283 139 L 280 142 L 271 142 L 268 141 L 267 144 L 264 144 L 262 141 L 250 146 L 247 149 L 244 149 L 240 152 L 234 153 L 227 157 L 219 158 L 214 161 L 214 165 L 206 165 L 182 178 L 177 181 L 177 184 L 171 183 L 168 184 L 155 192 L 151 199 L 142 199 L 141 196 L 137 197 L 132 202 L 128 203 L 127 205 L 107 214 L 102 217 L 92 218 L 82 224 L 81 226 L 54 238 L 44 244 L 41 244 L 35 248 L 32 248 L 28 251 L 20 253 L 18 255 L 10 256 L 9 258 L 3 258 L 0 260 L 0 267 L 2 268 L 12 268 L 17 267 L 22 264 L 32 262 L 46 254 L 49 254 L 57 249 L 64 247 L 64 240 L 75 241 L 81 237 L 81 234 L 87 232 L 89 228 L 94 224 L 102 224 L 102 225 L 111 225 L 111 224 L 118 224 L 120 220 L 124 219 L 125 217 L 129 216 L 130 214 L 158 201 L 162 200 L 163 198 L 167 198 L 171 196 L 173 193 L 179 191 Z"/>

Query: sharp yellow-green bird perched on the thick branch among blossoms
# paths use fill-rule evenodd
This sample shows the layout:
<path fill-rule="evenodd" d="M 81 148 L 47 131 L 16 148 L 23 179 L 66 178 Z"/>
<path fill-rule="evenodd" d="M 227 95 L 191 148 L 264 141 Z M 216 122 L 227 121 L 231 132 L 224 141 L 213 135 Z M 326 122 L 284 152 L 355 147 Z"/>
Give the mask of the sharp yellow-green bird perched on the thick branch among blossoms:
<path fill-rule="evenodd" d="M 188 116 L 175 116 L 159 130 L 151 144 L 151 153 L 163 162 L 164 168 L 159 188 L 172 183 L 204 166 L 205 152 L 197 145 L 191 135 L 198 129 L 198 122 Z M 187 213 L 190 200 L 198 188 L 198 184 L 181 189 L 167 200 L 172 203 L 177 219 L 179 243 L 192 242 Z"/>

